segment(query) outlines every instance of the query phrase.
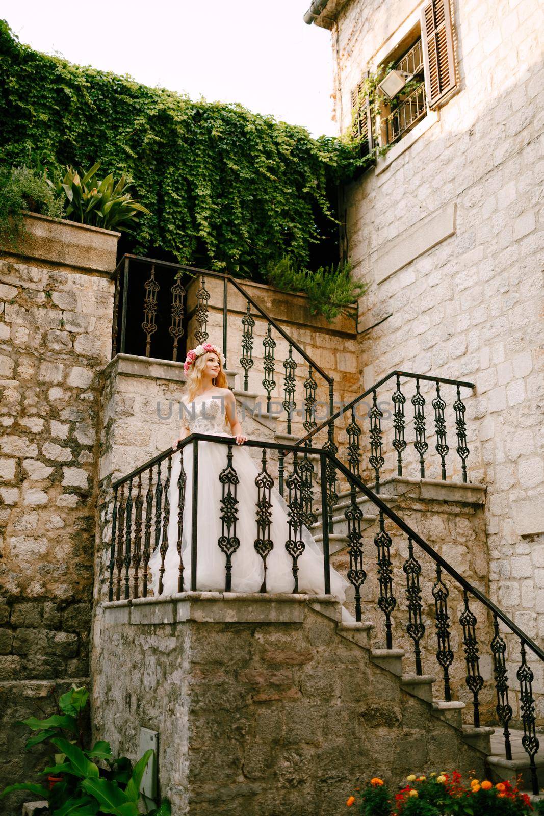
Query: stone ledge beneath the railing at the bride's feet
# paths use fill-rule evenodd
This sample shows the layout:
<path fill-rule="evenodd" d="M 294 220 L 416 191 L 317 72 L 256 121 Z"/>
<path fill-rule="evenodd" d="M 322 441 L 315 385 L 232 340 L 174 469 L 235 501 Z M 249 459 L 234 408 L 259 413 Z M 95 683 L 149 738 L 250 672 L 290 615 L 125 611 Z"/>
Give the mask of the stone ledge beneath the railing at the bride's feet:
<path fill-rule="evenodd" d="M 104 601 L 104 623 L 303 623 L 303 604 L 340 619 L 340 603 L 332 595 L 252 594 L 249 592 L 178 592 L 158 598 Z"/>

